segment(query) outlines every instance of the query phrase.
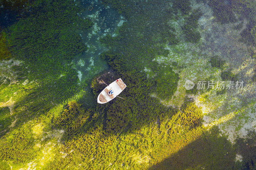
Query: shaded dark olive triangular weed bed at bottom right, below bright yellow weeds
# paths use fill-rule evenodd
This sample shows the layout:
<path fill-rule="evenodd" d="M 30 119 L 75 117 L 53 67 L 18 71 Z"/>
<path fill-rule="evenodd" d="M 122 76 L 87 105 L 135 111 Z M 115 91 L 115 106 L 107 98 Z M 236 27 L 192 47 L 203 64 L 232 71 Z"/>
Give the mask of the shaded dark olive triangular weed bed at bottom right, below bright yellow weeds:
<path fill-rule="evenodd" d="M 203 132 L 195 141 L 150 167 L 149 170 L 233 169 L 236 167 L 234 162 L 235 149 L 226 137 L 220 137 L 219 134 L 220 131 L 217 127 Z"/>

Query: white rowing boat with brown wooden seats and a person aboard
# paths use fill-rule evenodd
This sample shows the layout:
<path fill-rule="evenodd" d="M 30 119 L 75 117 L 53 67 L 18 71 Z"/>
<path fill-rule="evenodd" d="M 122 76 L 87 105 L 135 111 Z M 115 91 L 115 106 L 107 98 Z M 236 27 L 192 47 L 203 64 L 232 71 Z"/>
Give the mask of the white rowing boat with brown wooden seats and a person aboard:
<path fill-rule="evenodd" d="M 98 103 L 103 104 L 109 102 L 120 94 L 125 87 L 126 85 L 123 80 L 121 78 L 117 79 L 100 92 L 97 99 Z"/>

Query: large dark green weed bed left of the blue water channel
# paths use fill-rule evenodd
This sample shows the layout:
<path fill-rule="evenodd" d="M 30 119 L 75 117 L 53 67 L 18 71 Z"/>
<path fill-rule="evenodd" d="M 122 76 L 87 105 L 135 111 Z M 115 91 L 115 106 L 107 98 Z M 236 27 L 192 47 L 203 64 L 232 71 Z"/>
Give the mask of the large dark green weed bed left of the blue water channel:
<path fill-rule="evenodd" d="M 16 99 L 13 116 L 19 117 L 17 126 L 46 114 L 54 105 L 86 86 L 77 85 L 77 73 L 68 63 L 86 50 L 75 31 L 88 29 L 92 22 L 77 17 L 79 8 L 73 1 L 35 3 L 31 15 L 5 29 L 1 39 L 4 54 L 1 56 L 12 54 L 15 59 L 24 61 L 23 65 L 11 68 L 16 80 L 34 82 L 22 88 L 15 84 L 5 88 L 7 79 L 0 85 L 1 101 L 6 102 L 12 96 Z M 15 90 L 19 97 L 13 95 Z"/>

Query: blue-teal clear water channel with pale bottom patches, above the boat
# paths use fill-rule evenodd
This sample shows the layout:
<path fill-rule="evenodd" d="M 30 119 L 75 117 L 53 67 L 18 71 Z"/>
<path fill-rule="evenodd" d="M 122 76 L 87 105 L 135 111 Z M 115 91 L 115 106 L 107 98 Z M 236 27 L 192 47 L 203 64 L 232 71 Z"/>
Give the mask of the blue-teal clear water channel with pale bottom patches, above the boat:
<path fill-rule="evenodd" d="M 107 51 L 108 48 L 100 43 L 100 39 L 107 34 L 116 36 L 116 29 L 121 26 L 119 23 L 120 21 L 122 23 L 125 18 L 118 15 L 113 8 L 104 6 L 98 0 L 83 0 L 79 5 L 82 11 L 77 13 L 77 15 L 81 18 L 89 18 L 93 21 L 92 28 L 78 32 L 88 49 L 81 55 L 76 56 L 72 61 L 74 68 L 76 68 L 78 72 L 79 80 L 84 81 L 108 69 L 106 61 L 100 59 L 100 54 Z"/>

